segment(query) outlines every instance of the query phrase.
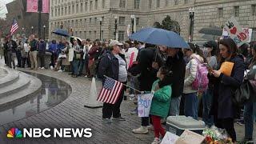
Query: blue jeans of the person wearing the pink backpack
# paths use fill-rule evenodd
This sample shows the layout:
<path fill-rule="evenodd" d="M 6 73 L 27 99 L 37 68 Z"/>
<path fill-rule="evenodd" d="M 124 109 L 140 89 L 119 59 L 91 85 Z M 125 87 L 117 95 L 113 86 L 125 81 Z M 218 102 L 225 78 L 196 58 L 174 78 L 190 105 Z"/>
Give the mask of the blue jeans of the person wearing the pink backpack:
<path fill-rule="evenodd" d="M 197 93 L 184 94 L 184 113 L 186 117 L 198 119 L 198 96 Z"/>

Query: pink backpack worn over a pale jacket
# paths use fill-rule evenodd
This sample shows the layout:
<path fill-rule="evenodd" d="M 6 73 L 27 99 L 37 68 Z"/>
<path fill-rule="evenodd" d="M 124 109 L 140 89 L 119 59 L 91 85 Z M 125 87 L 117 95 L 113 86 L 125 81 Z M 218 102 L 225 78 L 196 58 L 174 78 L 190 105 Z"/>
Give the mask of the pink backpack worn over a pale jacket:
<path fill-rule="evenodd" d="M 195 58 L 198 62 L 198 70 L 196 74 L 196 78 L 192 83 L 192 89 L 198 90 L 199 92 L 204 92 L 208 88 L 209 79 L 207 77 L 208 70 L 207 67 L 204 66 L 201 62 L 199 62 L 198 58 Z"/>

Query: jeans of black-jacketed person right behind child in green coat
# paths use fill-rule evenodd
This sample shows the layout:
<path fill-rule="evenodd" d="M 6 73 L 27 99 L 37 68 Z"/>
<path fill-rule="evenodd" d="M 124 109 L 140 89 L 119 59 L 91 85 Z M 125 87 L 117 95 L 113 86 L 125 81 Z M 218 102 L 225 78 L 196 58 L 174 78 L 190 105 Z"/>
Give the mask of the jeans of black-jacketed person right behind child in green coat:
<path fill-rule="evenodd" d="M 171 98 L 170 110 L 169 110 L 170 116 L 179 115 L 179 105 L 181 103 L 181 98 L 182 98 L 182 96 Z"/>

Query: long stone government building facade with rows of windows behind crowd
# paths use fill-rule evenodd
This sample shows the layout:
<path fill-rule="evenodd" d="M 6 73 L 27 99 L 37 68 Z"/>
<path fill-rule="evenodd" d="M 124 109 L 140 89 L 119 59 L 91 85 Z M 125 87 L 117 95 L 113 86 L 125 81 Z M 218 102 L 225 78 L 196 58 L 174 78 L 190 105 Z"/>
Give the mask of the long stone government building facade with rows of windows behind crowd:
<path fill-rule="evenodd" d="M 49 37 L 58 39 L 51 32 L 63 28 L 79 38 L 125 41 L 127 33 L 162 23 L 166 15 L 179 23 L 186 41 L 206 41 L 198 30 L 222 27 L 231 16 L 252 28 L 256 40 L 255 0 L 50 0 Z"/>

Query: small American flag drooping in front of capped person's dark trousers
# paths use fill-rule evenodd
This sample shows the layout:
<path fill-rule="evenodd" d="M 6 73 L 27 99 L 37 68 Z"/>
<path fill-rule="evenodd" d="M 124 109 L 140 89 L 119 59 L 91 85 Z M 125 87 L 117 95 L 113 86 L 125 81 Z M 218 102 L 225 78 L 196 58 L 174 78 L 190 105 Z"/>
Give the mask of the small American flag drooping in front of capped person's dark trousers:
<path fill-rule="evenodd" d="M 117 102 L 120 92 L 122 91 L 122 82 L 118 82 L 112 78 L 106 77 L 100 94 L 98 94 L 99 102 L 114 104 Z"/>

